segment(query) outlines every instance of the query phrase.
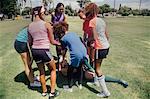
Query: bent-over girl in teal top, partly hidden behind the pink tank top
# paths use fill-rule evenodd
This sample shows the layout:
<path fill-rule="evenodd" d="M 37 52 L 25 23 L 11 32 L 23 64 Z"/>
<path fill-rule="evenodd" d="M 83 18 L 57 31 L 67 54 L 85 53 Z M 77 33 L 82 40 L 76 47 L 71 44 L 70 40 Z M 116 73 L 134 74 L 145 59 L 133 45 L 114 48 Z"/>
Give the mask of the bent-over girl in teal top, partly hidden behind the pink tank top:
<path fill-rule="evenodd" d="M 30 82 L 29 86 L 40 87 L 41 86 L 40 82 L 34 81 L 34 75 L 31 67 L 32 59 L 30 57 L 27 41 L 28 41 L 27 27 L 25 27 L 17 34 L 14 43 L 14 48 L 20 54 L 21 59 L 24 63 L 25 74 Z"/>

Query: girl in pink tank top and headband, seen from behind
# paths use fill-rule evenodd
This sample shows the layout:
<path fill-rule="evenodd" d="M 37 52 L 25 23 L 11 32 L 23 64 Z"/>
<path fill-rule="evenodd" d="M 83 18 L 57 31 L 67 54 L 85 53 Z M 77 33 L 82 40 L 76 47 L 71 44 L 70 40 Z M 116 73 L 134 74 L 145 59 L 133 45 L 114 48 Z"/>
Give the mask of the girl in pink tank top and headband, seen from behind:
<path fill-rule="evenodd" d="M 56 97 L 59 93 L 55 91 L 56 85 L 56 65 L 55 61 L 49 51 L 50 43 L 60 45 L 54 40 L 53 30 L 50 23 L 44 21 L 45 9 L 42 6 L 33 8 L 34 21 L 29 25 L 28 36 L 29 44 L 32 45 L 32 55 L 38 69 L 40 71 L 40 81 L 42 84 L 42 95 L 47 95 L 45 69 L 46 64 L 50 70 L 50 97 Z"/>

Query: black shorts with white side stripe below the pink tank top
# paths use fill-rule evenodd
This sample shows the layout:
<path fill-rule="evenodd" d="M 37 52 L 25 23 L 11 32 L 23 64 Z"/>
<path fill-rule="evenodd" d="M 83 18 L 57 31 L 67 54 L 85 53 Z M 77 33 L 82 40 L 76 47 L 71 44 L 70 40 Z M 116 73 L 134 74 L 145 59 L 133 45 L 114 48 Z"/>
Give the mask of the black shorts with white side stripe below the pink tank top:
<path fill-rule="evenodd" d="M 53 59 L 49 49 L 32 49 L 32 56 L 36 64 L 47 63 Z"/>

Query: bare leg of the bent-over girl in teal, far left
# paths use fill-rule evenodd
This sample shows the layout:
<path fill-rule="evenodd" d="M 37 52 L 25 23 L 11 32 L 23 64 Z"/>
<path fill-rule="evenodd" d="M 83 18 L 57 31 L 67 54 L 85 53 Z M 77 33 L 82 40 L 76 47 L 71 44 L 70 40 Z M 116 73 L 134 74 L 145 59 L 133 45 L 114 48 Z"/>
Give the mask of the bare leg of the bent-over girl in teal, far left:
<path fill-rule="evenodd" d="M 32 67 L 31 67 L 31 63 L 30 63 L 30 57 L 27 52 L 21 53 L 20 55 L 21 55 L 22 61 L 24 63 L 25 73 L 26 73 L 30 83 L 33 83 L 34 77 L 33 77 L 33 71 L 32 71 Z"/>

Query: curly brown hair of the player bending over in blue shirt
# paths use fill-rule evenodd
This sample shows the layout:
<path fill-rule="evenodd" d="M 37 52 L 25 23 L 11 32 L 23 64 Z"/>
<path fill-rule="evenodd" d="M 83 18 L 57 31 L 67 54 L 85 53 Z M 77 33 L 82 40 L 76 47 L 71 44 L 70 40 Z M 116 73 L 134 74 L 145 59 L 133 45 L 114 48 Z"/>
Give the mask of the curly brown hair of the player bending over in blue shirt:
<path fill-rule="evenodd" d="M 54 33 L 61 39 L 65 35 L 65 32 L 68 31 L 68 27 L 69 25 L 66 22 L 59 22 L 53 26 Z"/>

